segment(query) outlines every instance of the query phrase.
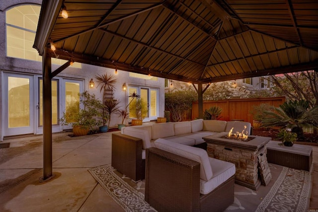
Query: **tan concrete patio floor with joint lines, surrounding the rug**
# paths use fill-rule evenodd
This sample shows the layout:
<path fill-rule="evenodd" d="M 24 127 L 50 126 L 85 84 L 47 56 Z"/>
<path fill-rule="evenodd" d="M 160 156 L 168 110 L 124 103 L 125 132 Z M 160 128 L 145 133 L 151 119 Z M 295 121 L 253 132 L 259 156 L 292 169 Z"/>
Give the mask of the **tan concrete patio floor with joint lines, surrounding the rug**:
<path fill-rule="evenodd" d="M 0 211 L 124 211 L 87 171 L 111 163 L 111 134 L 70 137 L 53 134 L 53 173 L 43 176 L 42 136 L 3 141 L 0 149 Z M 309 209 L 318 209 L 318 146 L 313 146 L 313 189 Z"/>

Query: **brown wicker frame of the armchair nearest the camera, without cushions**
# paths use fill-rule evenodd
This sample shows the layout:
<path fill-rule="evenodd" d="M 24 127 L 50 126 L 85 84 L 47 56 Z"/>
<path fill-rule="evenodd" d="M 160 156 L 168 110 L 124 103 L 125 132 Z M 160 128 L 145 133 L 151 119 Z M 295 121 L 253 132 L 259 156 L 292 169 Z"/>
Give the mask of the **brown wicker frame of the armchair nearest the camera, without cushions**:
<path fill-rule="evenodd" d="M 234 202 L 234 175 L 202 195 L 199 162 L 148 148 L 145 200 L 159 212 L 222 212 Z"/>

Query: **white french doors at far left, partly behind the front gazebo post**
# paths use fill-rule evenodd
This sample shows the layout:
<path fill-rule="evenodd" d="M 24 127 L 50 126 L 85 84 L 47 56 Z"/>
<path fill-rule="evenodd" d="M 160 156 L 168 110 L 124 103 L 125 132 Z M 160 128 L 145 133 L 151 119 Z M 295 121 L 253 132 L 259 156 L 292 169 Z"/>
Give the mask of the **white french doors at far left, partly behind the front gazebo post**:
<path fill-rule="evenodd" d="M 42 77 L 2 72 L 2 138 L 43 133 Z M 57 77 L 52 79 L 52 132 L 70 129 L 59 119 L 70 103 L 79 101 L 83 80 Z M 1 138 L 1 139 L 2 139 Z"/>

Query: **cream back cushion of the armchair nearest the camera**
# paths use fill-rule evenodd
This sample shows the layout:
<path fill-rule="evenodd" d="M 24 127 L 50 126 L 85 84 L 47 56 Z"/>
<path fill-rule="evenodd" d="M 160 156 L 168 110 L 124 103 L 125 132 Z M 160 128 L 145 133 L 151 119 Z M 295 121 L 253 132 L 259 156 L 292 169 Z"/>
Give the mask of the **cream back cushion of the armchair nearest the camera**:
<path fill-rule="evenodd" d="M 202 148 L 196 148 L 193 146 L 182 145 L 179 143 L 167 141 L 164 139 L 157 139 L 155 146 L 164 151 L 177 154 L 182 157 L 186 157 L 191 160 L 195 160 L 200 163 L 200 178 L 208 181 L 212 178 L 212 168 L 208 153 Z"/>

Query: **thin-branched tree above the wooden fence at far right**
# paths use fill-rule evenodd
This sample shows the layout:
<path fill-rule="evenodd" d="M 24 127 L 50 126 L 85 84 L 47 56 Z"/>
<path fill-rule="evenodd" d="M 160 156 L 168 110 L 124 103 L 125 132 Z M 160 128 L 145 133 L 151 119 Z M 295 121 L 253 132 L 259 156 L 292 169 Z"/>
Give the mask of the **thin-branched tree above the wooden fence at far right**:
<path fill-rule="evenodd" d="M 309 105 L 318 105 L 318 72 L 302 71 L 270 76 L 273 91 L 290 100 L 307 99 Z"/>

